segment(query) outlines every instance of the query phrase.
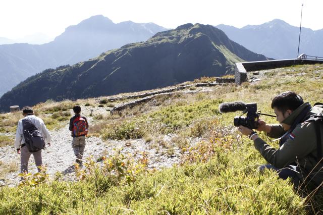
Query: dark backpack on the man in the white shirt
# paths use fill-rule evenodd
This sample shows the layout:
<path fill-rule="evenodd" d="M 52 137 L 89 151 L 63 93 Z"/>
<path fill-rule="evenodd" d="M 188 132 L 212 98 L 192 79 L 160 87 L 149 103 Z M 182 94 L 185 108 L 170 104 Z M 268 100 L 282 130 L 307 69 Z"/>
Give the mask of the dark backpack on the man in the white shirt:
<path fill-rule="evenodd" d="M 30 121 L 30 119 L 23 119 L 22 126 L 24 131 L 23 135 L 25 138 L 25 143 L 28 150 L 30 152 L 36 152 L 43 149 L 45 147 L 45 140 L 40 131 Z"/>

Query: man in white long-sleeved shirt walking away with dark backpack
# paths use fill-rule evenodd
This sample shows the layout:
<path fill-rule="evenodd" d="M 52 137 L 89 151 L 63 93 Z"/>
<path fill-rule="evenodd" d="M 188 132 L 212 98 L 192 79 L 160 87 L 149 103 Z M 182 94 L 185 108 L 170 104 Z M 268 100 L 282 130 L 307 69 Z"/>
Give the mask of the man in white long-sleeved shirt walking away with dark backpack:
<path fill-rule="evenodd" d="M 17 132 L 16 132 L 16 140 L 15 140 L 15 147 L 17 149 L 17 153 L 20 154 L 20 172 L 21 173 L 28 173 L 28 162 L 29 162 L 29 157 L 31 154 L 33 154 L 34 159 L 35 159 L 35 164 L 38 169 L 38 172 L 41 171 L 40 167 L 42 165 L 42 158 L 41 158 L 41 150 L 38 150 L 36 152 L 30 152 L 26 146 L 25 138 L 24 138 L 24 128 L 23 128 L 23 123 L 22 121 L 24 119 L 29 120 L 42 134 L 45 143 L 50 146 L 50 139 L 51 136 L 42 121 L 42 119 L 36 117 L 34 115 L 33 110 L 29 106 L 25 106 L 23 108 L 23 116 L 24 118 L 19 120 L 18 126 L 17 126 Z"/>

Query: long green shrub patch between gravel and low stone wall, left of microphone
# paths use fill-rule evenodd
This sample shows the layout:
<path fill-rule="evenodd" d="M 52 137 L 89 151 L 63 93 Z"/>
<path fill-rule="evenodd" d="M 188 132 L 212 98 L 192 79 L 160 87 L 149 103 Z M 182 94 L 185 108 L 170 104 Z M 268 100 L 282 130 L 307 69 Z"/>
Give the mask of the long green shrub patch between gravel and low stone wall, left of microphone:
<path fill-rule="evenodd" d="M 222 100 L 202 100 L 191 104 L 177 102 L 151 114 L 106 126 L 101 134 L 105 139 L 130 139 L 142 138 L 147 132 L 173 133 L 190 126 L 196 119 L 219 115 L 221 102 Z"/>

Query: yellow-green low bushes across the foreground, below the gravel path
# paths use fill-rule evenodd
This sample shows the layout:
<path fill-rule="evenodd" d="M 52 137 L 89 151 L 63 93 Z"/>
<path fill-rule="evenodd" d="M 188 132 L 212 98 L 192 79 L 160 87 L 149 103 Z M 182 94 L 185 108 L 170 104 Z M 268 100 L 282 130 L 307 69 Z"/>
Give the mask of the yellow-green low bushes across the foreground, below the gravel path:
<path fill-rule="evenodd" d="M 226 141 L 225 139 L 219 141 Z M 220 145 L 224 145 L 223 142 Z M 102 157 L 101 168 L 88 160 L 75 166 L 77 182 L 26 183 L 0 192 L 1 214 L 209 213 L 306 214 L 304 200 L 275 173 L 260 175 L 251 164 L 261 162 L 250 144 L 234 149 L 201 143 L 201 156 L 180 167 L 147 172 L 122 154 Z M 192 150 L 191 150 L 192 151 Z M 246 151 L 248 151 L 246 153 Z M 192 153 L 190 154 L 192 157 Z M 24 199 L 24 201 L 21 201 Z"/>

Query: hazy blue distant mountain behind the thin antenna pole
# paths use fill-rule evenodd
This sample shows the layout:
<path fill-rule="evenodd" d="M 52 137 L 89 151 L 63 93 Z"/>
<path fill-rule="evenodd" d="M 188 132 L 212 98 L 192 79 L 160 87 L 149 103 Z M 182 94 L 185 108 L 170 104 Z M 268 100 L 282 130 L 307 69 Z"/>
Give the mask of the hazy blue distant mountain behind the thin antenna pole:
<path fill-rule="evenodd" d="M 297 58 L 299 27 L 283 20 L 274 19 L 261 25 L 246 25 L 242 28 L 220 24 L 230 39 L 249 50 L 274 59 Z M 323 29 L 311 30 L 302 27 L 300 53 L 310 56 L 323 56 Z"/>

